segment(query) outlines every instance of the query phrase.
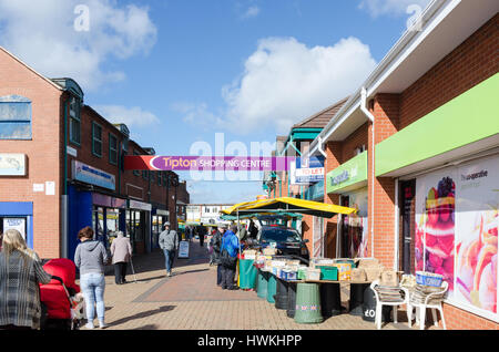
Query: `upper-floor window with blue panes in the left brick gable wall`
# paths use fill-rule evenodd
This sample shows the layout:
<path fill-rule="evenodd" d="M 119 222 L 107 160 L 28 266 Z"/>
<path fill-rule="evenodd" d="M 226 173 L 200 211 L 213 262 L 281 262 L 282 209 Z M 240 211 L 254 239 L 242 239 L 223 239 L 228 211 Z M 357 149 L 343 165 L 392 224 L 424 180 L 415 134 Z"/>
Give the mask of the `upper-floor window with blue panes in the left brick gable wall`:
<path fill-rule="evenodd" d="M 31 137 L 31 101 L 19 95 L 0 97 L 0 139 Z"/>

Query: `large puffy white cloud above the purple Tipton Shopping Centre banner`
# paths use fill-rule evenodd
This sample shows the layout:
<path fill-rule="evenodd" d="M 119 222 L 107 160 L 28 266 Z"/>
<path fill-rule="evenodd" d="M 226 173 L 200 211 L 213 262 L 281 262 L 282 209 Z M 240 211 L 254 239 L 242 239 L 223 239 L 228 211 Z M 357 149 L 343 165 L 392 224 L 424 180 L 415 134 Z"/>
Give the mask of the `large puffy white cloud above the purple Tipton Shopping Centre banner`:
<path fill-rule="evenodd" d="M 224 86 L 224 125 L 234 132 L 288 128 L 352 94 L 376 65 L 356 38 L 308 48 L 294 38 L 261 40 L 242 76 Z"/>

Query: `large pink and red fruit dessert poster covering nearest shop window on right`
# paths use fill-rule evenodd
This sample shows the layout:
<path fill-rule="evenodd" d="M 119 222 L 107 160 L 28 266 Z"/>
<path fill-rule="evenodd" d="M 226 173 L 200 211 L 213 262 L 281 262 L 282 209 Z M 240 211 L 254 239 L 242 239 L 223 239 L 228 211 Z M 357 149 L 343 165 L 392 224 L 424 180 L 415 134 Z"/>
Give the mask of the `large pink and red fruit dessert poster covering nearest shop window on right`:
<path fill-rule="evenodd" d="M 416 270 L 442 275 L 448 299 L 495 320 L 498 179 L 496 157 L 416 180 Z"/>

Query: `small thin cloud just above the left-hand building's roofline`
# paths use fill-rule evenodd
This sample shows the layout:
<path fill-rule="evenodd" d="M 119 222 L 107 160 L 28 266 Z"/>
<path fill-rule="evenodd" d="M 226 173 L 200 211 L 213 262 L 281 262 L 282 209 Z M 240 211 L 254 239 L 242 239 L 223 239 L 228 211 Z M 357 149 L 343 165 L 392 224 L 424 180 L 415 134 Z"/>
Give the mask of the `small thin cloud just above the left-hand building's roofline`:
<path fill-rule="evenodd" d="M 160 123 L 156 115 L 138 106 L 96 105 L 92 107 L 111 123 L 123 123 L 128 127 L 144 127 Z"/>

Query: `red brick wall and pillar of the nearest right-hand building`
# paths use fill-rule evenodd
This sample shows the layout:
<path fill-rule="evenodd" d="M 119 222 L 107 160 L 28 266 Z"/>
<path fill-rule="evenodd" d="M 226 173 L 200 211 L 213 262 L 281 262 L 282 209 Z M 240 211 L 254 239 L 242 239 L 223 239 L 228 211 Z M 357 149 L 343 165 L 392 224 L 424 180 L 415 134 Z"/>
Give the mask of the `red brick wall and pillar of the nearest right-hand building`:
<path fill-rule="evenodd" d="M 499 71 L 498 19 L 499 15 L 496 14 L 400 95 L 378 94 L 375 96 L 373 114 L 376 117 L 376 143 L 384 141 Z M 370 138 L 369 131 L 369 145 Z M 396 259 L 394 258 L 395 183 L 393 179 L 384 177 L 371 179 L 370 157 L 369 155 L 369 211 L 373 201 L 370 187 L 375 187 L 375 214 L 373 216 L 369 213 L 369 224 L 374 219 L 375 257 L 391 268 Z M 450 304 L 445 304 L 445 314 L 448 329 L 499 329 L 498 323 Z"/>

